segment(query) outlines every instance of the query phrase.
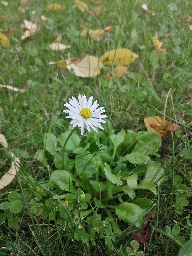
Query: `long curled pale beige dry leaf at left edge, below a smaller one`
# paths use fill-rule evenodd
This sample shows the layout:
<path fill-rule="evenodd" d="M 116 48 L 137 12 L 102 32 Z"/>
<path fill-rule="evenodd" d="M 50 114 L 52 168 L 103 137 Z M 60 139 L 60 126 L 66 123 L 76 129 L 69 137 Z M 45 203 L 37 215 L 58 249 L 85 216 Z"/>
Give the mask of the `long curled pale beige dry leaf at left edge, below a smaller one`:
<path fill-rule="evenodd" d="M 9 185 L 15 178 L 16 173 L 19 171 L 19 163 L 20 159 L 18 157 L 14 157 L 14 161 L 11 163 L 11 168 L 0 179 L 0 189 Z"/>

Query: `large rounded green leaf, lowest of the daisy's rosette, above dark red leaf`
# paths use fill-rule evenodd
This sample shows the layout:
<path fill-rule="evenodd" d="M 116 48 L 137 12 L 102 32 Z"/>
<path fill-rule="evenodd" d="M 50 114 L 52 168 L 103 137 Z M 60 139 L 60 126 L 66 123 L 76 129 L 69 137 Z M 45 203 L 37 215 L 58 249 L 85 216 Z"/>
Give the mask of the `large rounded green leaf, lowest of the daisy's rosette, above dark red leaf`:
<path fill-rule="evenodd" d="M 123 203 L 116 206 L 116 214 L 120 220 L 129 225 L 140 227 L 142 224 L 143 210 L 132 203 Z"/>

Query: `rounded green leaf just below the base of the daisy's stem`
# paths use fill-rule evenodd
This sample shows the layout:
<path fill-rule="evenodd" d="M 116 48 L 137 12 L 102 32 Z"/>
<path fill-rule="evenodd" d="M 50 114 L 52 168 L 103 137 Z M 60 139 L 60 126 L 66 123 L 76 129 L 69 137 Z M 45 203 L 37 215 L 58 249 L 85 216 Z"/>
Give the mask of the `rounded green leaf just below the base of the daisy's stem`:
<path fill-rule="evenodd" d="M 57 170 L 51 173 L 50 180 L 61 190 L 76 193 L 70 174 L 65 170 Z M 69 186 L 70 185 L 70 186 Z"/>

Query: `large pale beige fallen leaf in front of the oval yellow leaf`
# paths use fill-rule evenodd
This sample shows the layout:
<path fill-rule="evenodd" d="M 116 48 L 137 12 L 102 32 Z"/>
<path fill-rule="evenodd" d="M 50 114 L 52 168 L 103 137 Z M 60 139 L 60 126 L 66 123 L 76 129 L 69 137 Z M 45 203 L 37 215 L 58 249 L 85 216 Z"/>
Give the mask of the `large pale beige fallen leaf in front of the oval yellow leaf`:
<path fill-rule="evenodd" d="M 73 70 L 76 76 L 81 77 L 97 76 L 100 73 L 100 69 L 103 68 L 103 63 L 92 55 L 86 55 L 71 64 L 70 60 L 68 60 L 67 64 L 69 71 Z"/>

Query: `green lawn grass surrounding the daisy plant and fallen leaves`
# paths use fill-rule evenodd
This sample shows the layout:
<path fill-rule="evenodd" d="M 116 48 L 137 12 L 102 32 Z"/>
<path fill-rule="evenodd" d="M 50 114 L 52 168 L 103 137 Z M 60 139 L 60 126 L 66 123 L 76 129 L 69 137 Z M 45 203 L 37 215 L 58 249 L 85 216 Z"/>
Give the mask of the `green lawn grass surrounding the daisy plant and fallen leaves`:
<path fill-rule="evenodd" d="M 90 8 L 98 1 L 90 2 Z M 54 168 L 53 158 L 47 155 L 47 168 L 34 156 L 37 150 L 43 149 L 44 134 L 52 132 L 58 137 L 69 127 L 68 119 L 62 113 L 63 104 L 71 96 L 85 94 L 94 95 L 100 106 L 104 106 L 115 133 L 124 130 L 135 132 L 146 130 L 144 118 L 150 115 L 163 116 L 167 93 L 172 86 L 171 99 L 168 98 L 166 119 L 178 122 L 180 133 L 176 131 L 162 140 L 159 158 L 165 169 L 166 180 L 157 185 L 157 195 L 146 190 L 136 190 L 136 198 L 148 196 L 156 204 L 156 220 L 150 226 L 150 239 L 147 244 L 140 244 L 141 251 L 146 255 L 178 255 L 180 244 L 166 233 L 165 227 L 171 228 L 175 223 L 180 225 L 179 235 L 185 242 L 190 240 L 191 232 L 191 21 L 177 22 L 180 16 L 191 14 L 192 3 L 188 0 L 153 1 L 148 8 L 155 11 L 155 16 L 141 8 L 141 1 L 102 1 L 103 12 L 91 15 L 81 12 L 73 1 L 57 1 L 65 8 L 62 11 L 47 13 L 51 1 L 28 1 L 25 13 L 18 10 L 20 1 L 10 1 L 8 6 L 0 3 L 2 15 L 7 15 L 9 21 L 0 21 L 1 29 L 8 28 L 7 36 L 11 48 L 0 46 L 0 84 L 14 85 L 24 88 L 30 81 L 24 93 L 8 89 L 0 89 L 0 133 L 4 134 L 9 144 L 9 150 L 20 157 L 21 168 L 10 185 L 1 190 L 0 202 L 4 202 L 11 191 L 20 193 L 24 208 L 15 217 L 20 218 L 19 228 L 8 226 L 3 221 L 0 229 L 0 255 L 126 255 L 130 246 L 132 230 L 129 225 L 115 218 L 115 223 L 123 230 L 115 235 L 115 242 L 108 246 L 99 233 L 95 235 L 96 244 L 89 240 L 83 243 L 76 241 L 72 233 L 67 231 L 62 220 L 56 218 L 56 208 L 52 203 L 58 191 L 47 187 L 47 194 L 40 198 L 36 191 L 42 184 L 48 184 L 50 173 Z M 20 28 L 22 19 L 33 20 L 32 11 L 36 11 L 40 30 L 34 36 L 21 41 L 23 29 Z M 48 23 L 40 20 L 41 14 L 46 14 L 51 20 Z M 92 29 L 114 26 L 111 34 L 106 33 L 100 42 L 88 37 L 81 37 L 84 26 Z M 62 43 L 71 45 L 71 57 L 83 57 L 86 54 L 102 56 L 105 52 L 128 48 L 139 55 L 121 80 L 106 81 L 103 76 L 111 70 L 105 67 L 99 76 L 81 78 L 71 74 L 67 69 L 49 65 L 50 61 L 68 58 L 68 50 L 52 52 L 49 44 L 62 34 Z M 170 33 L 170 36 L 162 36 Z M 152 36 L 162 36 L 163 48 L 166 52 L 157 54 Z M 174 115 L 177 117 L 175 120 Z M 86 137 L 82 137 L 81 146 L 86 145 Z M 107 145 L 108 131 L 104 131 L 103 141 Z M 91 142 L 91 137 L 90 137 Z M 93 148 L 94 149 L 94 148 Z M 187 150 L 185 152 L 183 150 Z M 94 150 L 93 150 L 94 151 Z M 26 153 L 27 152 L 27 153 Z M 184 152 L 184 153 L 183 153 Z M 28 156 L 26 155 L 28 154 Z M 126 154 L 126 153 L 125 153 Z M 2 174 L 10 166 L 11 159 L 0 150 L 0 170 Z M 180 175 L 180 188 L 174 184 L 174 177 Z M 141 177 L 139 177 L 142 180 Z M 189 204 L 184 206 L 184 212 L 174 211 L 176 192 L 184 195 Z M 124 201 L 129 197 L 123 195 Z M 52 216 L 43 218 L 31 212 L 32 201 L 45 200 L 45 211 L 51 211 Z M 62 200 L 60 199 L 62 203 Z M 113 202 L 118 202 L 114 198 Z M 30 203 L 30 204 L 29 204 Z M 106 217 L 102 209 L 89 203 L 92 215 Z M 78 206 L 77 206 L 78 208 Z M 78 210 L 78 209 L 77 209 Z M 2 210 L 1 213 L 3 213 Z M 6 212 L 6 211 L 5 211 Z M 8 214 L 8 212 L 7 212 Z M 111 211 L 114 215 L 114 211 Z M 70 230 L 76 230 L 77 223 L 68 216 Z M 86 223 L 84 223 L 85 225 Z M 68 224 L 69 225 L 69 224 Z M 86 224 L 87 225 L 87 224 Z M 100 227 L 102 221 L 99 220 Z"/>

